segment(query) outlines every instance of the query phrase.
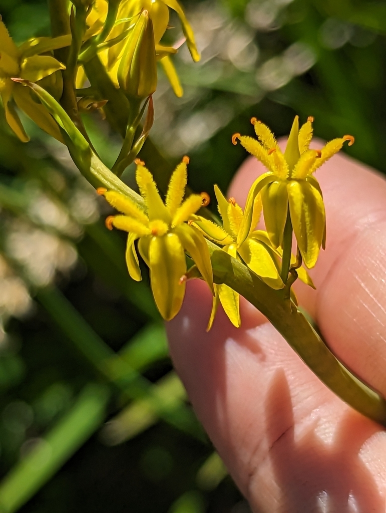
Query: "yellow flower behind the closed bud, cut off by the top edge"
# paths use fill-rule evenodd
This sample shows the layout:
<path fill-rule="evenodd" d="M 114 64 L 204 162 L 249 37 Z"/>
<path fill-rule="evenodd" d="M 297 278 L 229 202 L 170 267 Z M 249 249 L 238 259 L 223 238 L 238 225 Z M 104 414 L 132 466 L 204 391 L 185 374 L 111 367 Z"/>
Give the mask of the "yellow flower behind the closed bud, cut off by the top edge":
<path fill-rule="evenodd" d="M 182 96 L 183 91 L 175 67 L 172 63 L 170 55 L 177 52 L 173 47 L 160 44 L 162 36 L 165 34 L 169 24 L 169 8 L 173 9 L 182 25 L 182 31 L 186 37 L 189 51 L 192 55 L 193 61 L 197 62 L 200 59 L 196 43 L 194 40 L 193 30 L 185 16 L 184 10 L 179 5 L 177 0 L 123 0 L 118 9 L 117 21 L 107 37 L 107 42 L 114 40 L 121 36 L 125 31 L 135 24 L 138 16 L 147 10 L 149 17 L 153 23 L 154 28 L 154 44 L 157 60 L 160 61 L 164 71 L 172 85 L 172 88 L 177 96 Z M 92 35 L 99 33 L 107 15 L 108 4 L 106 0 L 97 0 L 87 17 L 88 30 L 86 32 L 85 40 Z M 129 32 L 130 33 L 130 32 Z M 126 39 L 126 38 L 125 38 Z M 116 44 L 111 46 L 108 50 L 100 52 L 100 57 L 106 65 L 108 72 L 115 83 L 118 85 L 117 72 L 119 61 L 124 53 L 126 41 L 117 41 Z M 84 73 L 79 70 L 77 77 L 77 85 L 82 85 L 82 77 Z"/>

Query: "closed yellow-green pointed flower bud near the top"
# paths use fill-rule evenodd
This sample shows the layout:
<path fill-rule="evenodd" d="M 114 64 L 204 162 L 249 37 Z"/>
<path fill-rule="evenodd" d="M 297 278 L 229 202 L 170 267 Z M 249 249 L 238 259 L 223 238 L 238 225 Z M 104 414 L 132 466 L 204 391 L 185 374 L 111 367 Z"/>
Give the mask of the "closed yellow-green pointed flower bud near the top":
<path fill-rule="evenodd" d="M 127 38 L 118 68 L 119 87 L 128 95 L 144 99 L 157 87 L 157 63 L 153 22 L 144 10 Z"/>

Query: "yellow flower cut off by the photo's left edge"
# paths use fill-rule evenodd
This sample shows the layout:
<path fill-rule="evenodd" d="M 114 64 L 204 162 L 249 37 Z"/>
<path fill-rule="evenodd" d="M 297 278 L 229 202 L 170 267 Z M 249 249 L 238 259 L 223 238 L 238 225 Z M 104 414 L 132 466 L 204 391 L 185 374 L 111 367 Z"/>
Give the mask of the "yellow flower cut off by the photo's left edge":
<path fill-rule="evenodd" d="M 17 47 L 4 23 L 0 21 L 0 95 L 7 123 L 24 142 L 29 141 L 29 137 L 24 131 L 13 104 L 10 103 L 11 97 L 17 107 L 23 110 L 40 128 L 58 141 L 63 142 L 63 140 L 57 124 L 46 108 L 33 100 L 28 87 L 13 82 L 12 78 L 38 82 L 55 71 L 65 69 L 65 66 L 54 57 L 39 54 L 68 46 L 70 43 L 71 36 L 69 35 L 54 38 L 34 37 Z"/>

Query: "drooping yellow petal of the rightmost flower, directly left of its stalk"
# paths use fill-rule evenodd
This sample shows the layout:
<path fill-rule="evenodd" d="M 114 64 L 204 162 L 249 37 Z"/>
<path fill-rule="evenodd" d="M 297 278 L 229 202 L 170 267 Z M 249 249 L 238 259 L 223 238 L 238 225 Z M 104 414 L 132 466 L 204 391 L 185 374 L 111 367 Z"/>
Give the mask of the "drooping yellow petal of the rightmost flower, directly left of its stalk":
<path fill-rule="evenodd" d="M 281 246 L 287 219 L 288 195 L 286 182 L 273 182 L 261 190 L 264 221 L 274 248 Z"/>

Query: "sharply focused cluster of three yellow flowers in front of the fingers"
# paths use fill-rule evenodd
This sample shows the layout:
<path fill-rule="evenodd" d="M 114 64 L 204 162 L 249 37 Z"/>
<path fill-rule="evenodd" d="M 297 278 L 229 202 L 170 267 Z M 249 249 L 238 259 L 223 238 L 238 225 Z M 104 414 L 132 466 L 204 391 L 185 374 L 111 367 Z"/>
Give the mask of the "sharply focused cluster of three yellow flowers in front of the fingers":
<path fill-rule="evenodd" d="M 326 239 L 326 219 L 322 193 L 313 172 L 339 151 L 344 141 L 353 144 L 346 135 L 326 144 L 321 150 L 310 150 L 312 121 L 300 128 L 298 117 L 284 153 L 269 128 L 252 119 L 258 140 L 235 134 L 233 142 L 241 144 L 268 171 L 252 185 L 245 211 L 234 198 L 227 200 L 217 187 L 214 191 L 222 226 L 196 212 L 202 205 L 202 196 L 192 194 L 184 202 L 187 184 L 188 157 L 172 174 L 164 203 L 151 173 L 137 161 L 136 180 L 145 200 L 141 210 L 124 194 L 98 189 L 106 200 L 124 215 L 109 216 L 107 226 L 129 232 L 126 261 L 129 273 L 141 279 L 134 242 L 139 239 L 138 250 L 150 268 L 154 298 L 162 317 L 169 320 L 179 311 L 185 294 L 187 251 L 214 293 L 213 308 L 208 329 L 212 326 L 216 309 L 221 303 L 231 322 L 240 326 L 239 294 L 228 285 L 214 284 L 208 245 L 204 237 L 222 247 L 232 258 L 245 263 L 251 272 L 273 289 L 282 289 L 288 282 L 288 272 L 314 288 L 307 270 L 316 263 L 320 247 Z M 267 231 L 256 229 L 261 210 Z M 286 241 L 285 227 L 290 223 L 290 239 Z M 298 258 L 291 254 L 292 231 L 298 245 Z M 289 252 L 288 269 L 285 267 Z M 300 257 L 300 255 L 301 257 Z M 300 261 L 299 261 L 300 259 Z M 293 300 L 296 298 L 292 295 Z"/>

